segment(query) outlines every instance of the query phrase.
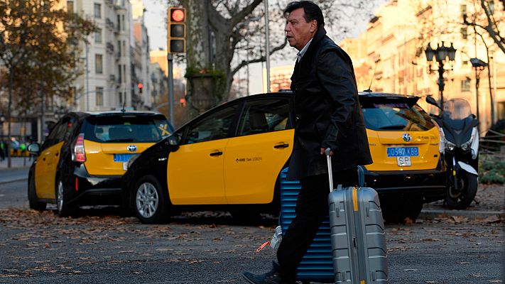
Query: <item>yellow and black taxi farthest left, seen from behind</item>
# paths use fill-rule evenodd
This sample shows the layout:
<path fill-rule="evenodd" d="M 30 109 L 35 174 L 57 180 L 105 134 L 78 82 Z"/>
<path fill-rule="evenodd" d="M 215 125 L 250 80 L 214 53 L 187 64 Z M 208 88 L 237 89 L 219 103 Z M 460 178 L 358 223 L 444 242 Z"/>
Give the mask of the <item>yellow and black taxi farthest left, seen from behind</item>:
<path fill-rule="evenodd" d="M 51 129 L 28 173 L 30 208 L 56 203 L 62 217 L 80 205 L 121 204 L 121 176 L 129 159 L 173 133 L 152 111 L 89 111 L 65 114 Z"/>

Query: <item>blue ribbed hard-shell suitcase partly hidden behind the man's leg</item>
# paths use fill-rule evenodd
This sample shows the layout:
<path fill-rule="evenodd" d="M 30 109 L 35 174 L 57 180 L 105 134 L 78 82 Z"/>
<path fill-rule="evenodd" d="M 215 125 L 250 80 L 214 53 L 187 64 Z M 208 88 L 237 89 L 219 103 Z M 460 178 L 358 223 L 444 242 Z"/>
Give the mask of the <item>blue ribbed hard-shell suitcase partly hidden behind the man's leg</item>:
<path fill-rule="evenodd" d="M 288 169 L 281 172 L 281 226 L 283 234 L 295 217 L 295 206 L 300 182 L 286 180 Z M 303 256 L 297 273 L 298 280 L 319 283 L 334 283 L 332 244 L 330 241 L 330 219 L 322 223 L 313 243 Z"/>

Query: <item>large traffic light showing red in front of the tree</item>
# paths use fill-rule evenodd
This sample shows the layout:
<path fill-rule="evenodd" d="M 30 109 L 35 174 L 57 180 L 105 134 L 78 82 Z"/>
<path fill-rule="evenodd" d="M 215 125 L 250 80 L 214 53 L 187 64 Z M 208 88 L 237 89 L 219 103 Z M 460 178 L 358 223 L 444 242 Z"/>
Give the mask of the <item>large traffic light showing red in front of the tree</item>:
<path fill-rule="evenodd" d="M 186 9 L 168 8 L 168 53 L 186 52 Z"/>

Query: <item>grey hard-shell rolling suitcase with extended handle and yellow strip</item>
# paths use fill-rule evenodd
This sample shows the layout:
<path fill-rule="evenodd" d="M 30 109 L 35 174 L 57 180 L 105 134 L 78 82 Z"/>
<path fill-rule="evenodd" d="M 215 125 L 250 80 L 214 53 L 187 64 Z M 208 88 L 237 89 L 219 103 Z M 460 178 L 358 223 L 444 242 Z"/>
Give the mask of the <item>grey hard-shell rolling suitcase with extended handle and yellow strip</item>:
<path fill-rule="evenodd" d="M 364 171 L 358 167 L 360 187 L 334 190 L 329 149 L 325 152 L 330 177 L 330 238 L 335 283 L 388 283 L 386 234 L 379 195 L 362 187 Z"/>

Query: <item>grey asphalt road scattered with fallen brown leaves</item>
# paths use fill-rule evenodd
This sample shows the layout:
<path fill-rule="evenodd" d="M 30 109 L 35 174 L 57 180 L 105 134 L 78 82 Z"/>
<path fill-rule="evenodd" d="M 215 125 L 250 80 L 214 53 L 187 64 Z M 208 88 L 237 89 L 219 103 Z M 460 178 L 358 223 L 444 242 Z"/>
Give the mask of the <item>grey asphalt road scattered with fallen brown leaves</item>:
<path fill-rule="evenodd" d="M 26 181 L 6 185 L 0 283 L 245 283 L 242 271 L 265 271 L 274 256 L 255 250 L 271 238 L 275 219 L 237 224 L 226 213 L 197 212 L 144 225 L 114 207 L 63 219 L 27 209 Z M 386 241 L 389 283 L 504 283 L 504 226 L 496 216 L 389 224 Z"/>

